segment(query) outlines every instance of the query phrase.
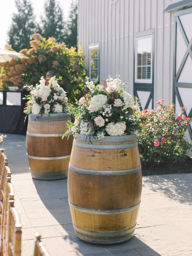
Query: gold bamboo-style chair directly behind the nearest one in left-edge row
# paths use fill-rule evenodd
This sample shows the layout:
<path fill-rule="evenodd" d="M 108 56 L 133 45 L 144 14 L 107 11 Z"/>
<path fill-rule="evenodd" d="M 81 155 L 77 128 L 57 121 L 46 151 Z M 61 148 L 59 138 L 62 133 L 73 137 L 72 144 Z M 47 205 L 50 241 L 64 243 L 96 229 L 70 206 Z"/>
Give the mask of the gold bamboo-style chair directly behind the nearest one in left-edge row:
<path fill-rule="evenodd" d="M 7 207 L 8 200 L 14 200 L 14 190 L 11 184 L 11 172 L 8 166 L 6 166 L 7 175 L 6 175 L 6 183 L 4 188 L 4 200 L 3 200 L 3 214 L 1 221 L 1 256 L 5 256 L 6 249 L 6 228 L 7 228 Z M 3 251 L 3 254 L 2 254 Z"/>

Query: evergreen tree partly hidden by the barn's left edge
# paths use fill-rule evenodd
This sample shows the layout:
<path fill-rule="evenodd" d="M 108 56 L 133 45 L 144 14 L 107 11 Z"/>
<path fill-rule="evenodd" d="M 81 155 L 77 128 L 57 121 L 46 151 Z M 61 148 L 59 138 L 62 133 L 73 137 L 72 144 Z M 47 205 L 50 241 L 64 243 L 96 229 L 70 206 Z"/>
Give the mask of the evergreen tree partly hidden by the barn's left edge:
<path fill-rule="evenodd" d="M 77 48 L 77 14 L 78 14 L 78 1 L 71 0 L 71 7 L 69 11 L 69 20 L 66 26 L 64 35 L 65 44 L 67 47 Z"/>

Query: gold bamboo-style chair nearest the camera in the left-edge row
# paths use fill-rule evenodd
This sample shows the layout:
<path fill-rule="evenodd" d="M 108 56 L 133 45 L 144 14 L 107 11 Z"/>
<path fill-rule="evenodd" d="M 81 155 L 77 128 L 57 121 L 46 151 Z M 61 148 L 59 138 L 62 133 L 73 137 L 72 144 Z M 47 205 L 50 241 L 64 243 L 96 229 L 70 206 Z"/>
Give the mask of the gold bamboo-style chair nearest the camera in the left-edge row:
<path fill-rule="evenodd" d="M 8 200 L 6 227 L 6 256 L 21 255 L 21 223 L 14 207 L 14 200 Z"/>

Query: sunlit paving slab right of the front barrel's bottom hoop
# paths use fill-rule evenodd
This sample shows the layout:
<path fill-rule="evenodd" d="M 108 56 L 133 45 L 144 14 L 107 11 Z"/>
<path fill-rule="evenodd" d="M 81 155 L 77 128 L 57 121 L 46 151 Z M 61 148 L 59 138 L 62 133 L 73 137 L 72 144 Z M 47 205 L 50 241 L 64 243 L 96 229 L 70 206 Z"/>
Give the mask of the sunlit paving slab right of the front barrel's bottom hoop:
<path fill-rule="evenodd" d="M 192 241 L 192 236 L 190 234 L 173 224 L 137 228 L 135 232 L 138 234 L 138 238 L 143 237 L 150 247 Z"/>

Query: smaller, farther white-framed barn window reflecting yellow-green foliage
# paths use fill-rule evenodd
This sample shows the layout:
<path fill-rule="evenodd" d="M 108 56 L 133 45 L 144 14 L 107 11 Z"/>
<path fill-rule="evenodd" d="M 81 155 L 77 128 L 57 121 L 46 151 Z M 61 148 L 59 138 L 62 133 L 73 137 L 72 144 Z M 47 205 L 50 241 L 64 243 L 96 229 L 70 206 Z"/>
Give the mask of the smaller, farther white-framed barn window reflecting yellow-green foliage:
<path fill-rule="evenodd" d="M 99 45 L 89 46 L 89 80 L 99 76 Z"/>

